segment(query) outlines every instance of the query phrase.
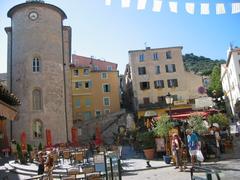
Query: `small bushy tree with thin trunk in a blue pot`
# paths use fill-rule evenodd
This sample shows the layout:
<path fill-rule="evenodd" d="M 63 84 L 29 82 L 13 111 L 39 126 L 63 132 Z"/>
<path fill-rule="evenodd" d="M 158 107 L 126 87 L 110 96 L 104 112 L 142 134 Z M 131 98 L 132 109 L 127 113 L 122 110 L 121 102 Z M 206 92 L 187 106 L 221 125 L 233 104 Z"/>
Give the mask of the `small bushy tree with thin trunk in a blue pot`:
<path fill-rule="evenodd" d="M 153 129 L 154 135 L 157 137 L 164 138 L 165 140 L 165 150 L 166 155 L 163 156 L 163 159 L 166 164 L 170 164 L 171 157 L 169 156 L 169 149 L 168 149 L 168 141 L 169 141 L 169 131 L 173 128 L 173 123 L 170 121 L 168 115 L 163 115 L 160 119 L 156 122 L 155 127 Z"/>

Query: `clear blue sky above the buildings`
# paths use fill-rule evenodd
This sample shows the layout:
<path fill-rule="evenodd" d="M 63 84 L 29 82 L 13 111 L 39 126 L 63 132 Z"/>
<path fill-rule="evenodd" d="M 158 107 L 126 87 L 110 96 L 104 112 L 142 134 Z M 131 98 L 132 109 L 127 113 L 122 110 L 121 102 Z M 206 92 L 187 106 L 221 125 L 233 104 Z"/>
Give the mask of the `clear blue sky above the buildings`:
<path fill-rule="evenodd" d="M 68 16 L 65 25 L 72 27 L 72 53 L 94 56 L 117 63 L 124 73 L 128 51 L 183 46 L 183 54 L 194 53 L 212 59 L 226 59 L 229 44 L 240 46 L 240 13 L 231 14 L 231 3 L 240 0 L 172 0 L 178 13 L 169 11 L 163 0 L 160 12 L 152 11 L 153 0 L 145 10 L 137 10 L 137 0 L 130 8 L 121 8 L 120 0 L 105 6 L 104 0 L 45 0 L 60 7 Z M 0 1 L 0 73 L 7 71 L 7 35 L 10 26 L 7 11 L 25 0 Z M 185 2 L 195 2 L 196 12 L 188 14 Z M 200 3 L 210 3 L 210 15 L 200 15 Z M 215 4 L 224 3 L 226 14 L 216 15 Z"/>

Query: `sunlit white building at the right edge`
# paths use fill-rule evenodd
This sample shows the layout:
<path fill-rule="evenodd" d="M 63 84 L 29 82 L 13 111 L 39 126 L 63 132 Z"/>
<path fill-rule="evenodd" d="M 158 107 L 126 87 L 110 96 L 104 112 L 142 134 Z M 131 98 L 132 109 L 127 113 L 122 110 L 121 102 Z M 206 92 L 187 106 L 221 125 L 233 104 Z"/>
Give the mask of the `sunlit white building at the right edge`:
<path fill-rule="evenodd" d="M 227 105 L 236 114 L 236 103 L 240 101 L 240 48 L 230 48 L 227 63 L 221 65 L 221 82 Z"/>

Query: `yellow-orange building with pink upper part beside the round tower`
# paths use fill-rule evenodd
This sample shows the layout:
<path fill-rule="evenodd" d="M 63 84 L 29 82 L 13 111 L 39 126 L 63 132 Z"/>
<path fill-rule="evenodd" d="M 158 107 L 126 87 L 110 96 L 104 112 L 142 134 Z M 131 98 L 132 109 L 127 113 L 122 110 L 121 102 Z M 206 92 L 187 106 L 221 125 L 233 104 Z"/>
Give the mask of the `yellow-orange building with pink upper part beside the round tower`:
<path fill-rule="evenodd" d="M 72 55 L 73 120 L 90 120 L 120 111 L 117 64 Z"/>

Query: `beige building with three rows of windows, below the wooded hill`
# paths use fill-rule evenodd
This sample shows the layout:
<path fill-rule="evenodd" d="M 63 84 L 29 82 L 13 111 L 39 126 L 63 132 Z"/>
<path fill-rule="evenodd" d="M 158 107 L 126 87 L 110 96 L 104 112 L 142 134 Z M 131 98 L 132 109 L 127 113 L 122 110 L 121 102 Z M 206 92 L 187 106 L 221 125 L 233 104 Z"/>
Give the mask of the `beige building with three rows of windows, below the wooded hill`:
<path fill-rule="evenodd" d="M 173 110 L 192 108 L 194 99 L 206 96 L 202 77 L 185 71 L 181 46 L 147 47 L 128 53 L 126 89 L 132 87 L 132 101 L 138 117 L 150 109 L 158 115 L 165 113 L 168 108 L 165 96 L 168 93 L 174 99 Z"/>

